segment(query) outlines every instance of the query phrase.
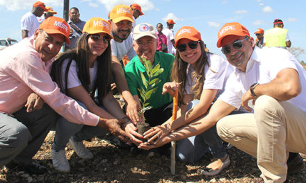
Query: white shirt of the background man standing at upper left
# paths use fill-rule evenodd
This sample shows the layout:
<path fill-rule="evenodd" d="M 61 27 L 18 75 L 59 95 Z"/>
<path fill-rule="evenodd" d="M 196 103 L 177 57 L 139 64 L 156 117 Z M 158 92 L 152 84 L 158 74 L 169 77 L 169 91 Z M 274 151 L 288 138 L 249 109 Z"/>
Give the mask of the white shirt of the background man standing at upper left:
<path fill-rule="evenodd" d="M 27 12 L 24 16 L 22 16 L 21 22 L 22 30 L 29 31 L 28 37 L 31 37 L 35 33 L 35 30 L 40 26 L 40 23 L 33 12 Z"/>

